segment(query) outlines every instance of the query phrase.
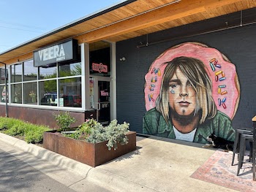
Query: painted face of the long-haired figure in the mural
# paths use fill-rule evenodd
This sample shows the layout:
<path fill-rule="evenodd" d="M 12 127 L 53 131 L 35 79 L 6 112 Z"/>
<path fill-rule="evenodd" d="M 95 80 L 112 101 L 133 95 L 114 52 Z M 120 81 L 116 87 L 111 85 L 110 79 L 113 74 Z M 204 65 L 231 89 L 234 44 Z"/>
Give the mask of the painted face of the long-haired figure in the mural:
<path fill-rule="evenodd" d="M 169 82 L 169 105 L 178 115 L 192 115 L 196 107 L 195 89 L 187 77 L 176 69 Z"/>

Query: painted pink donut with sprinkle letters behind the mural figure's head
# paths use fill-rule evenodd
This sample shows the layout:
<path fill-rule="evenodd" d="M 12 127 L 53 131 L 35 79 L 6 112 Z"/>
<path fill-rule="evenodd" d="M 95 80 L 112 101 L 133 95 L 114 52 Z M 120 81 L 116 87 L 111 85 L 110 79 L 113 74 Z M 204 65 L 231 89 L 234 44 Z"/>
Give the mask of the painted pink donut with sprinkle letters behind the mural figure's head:
<path fill-rule="evenodd" d="M 240 85 L 236 74 L 236 66 L 228 61 L 219 50 L 197 42 L 187 42 L 171 47 L 159 55 L 151 64 L 148 73 L 145 75 L 146 110 L 155 107 L 155 100 L 159 96 L 162 74 L 166 66 L 162 64 L 180 56 L 197 58 L 203 61 L 208 69 L 208 76 L 211 78 L 212 96 L 217 109 L 233 119 L 240 99 Z"/>

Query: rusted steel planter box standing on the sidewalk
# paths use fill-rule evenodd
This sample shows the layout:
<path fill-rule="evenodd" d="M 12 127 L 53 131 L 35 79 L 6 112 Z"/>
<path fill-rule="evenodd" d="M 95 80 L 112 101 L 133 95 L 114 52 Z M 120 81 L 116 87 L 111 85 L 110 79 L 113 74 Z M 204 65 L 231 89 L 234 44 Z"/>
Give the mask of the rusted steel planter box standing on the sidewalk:
<path fill-rule="evenodd" d="M 43 147 L 89 166 L 98 166 L 136 149 L 136 132 L 129 131 L 127 145 L 118 144 L 116 150 L 108 150 L 106 142 L 89 143 L 62 136 L 56 131 L 46 131 Z"/>

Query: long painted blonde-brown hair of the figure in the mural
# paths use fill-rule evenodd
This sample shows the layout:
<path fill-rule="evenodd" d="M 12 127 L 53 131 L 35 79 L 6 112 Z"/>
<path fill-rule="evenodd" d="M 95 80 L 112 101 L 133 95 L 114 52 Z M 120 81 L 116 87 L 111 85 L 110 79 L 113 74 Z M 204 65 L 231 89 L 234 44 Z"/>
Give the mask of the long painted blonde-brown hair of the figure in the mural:
<path fill-rule="evenodd" d="M 165 121 L 168 123 L 169 117 L 169 82 L 179 68 L 187 77 L 196 93 L 195 114 L 201 110 L 199 123 L 202 124 L 206 119 L 214 118 L 217 113 L 217 107 L 212 98 L 212 84 L 206 72 L 206 66 L 197 58 L 177 57 L 172 61 L 165 62 L 165 72 L 162 76 L 162 84 L 159 96 L 156 101 L 156 109 L 162 113 Z"/>

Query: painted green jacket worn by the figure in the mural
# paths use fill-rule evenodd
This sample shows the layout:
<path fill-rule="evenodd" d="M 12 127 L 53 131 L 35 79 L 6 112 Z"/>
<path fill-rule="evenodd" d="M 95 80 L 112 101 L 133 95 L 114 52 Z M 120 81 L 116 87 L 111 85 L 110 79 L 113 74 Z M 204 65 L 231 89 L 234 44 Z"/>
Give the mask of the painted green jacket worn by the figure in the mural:
<path fill-rule="evenodd" d="M 173 123 L 170 120 L 168 123 L 169 125 L 167 125 L 164 117 L 156 108 L 148 110 L 143 117 L 143 134 L 176 139 Z M 207 143 L 206 138 L 212 133 L 229 141 L 234 141 L 236 136 L 230 118 L 220 111 L 217 112 L 214 118 L 206 120 L 203 124 L 197 126 L 193 142 L 205 144 Z"/>

